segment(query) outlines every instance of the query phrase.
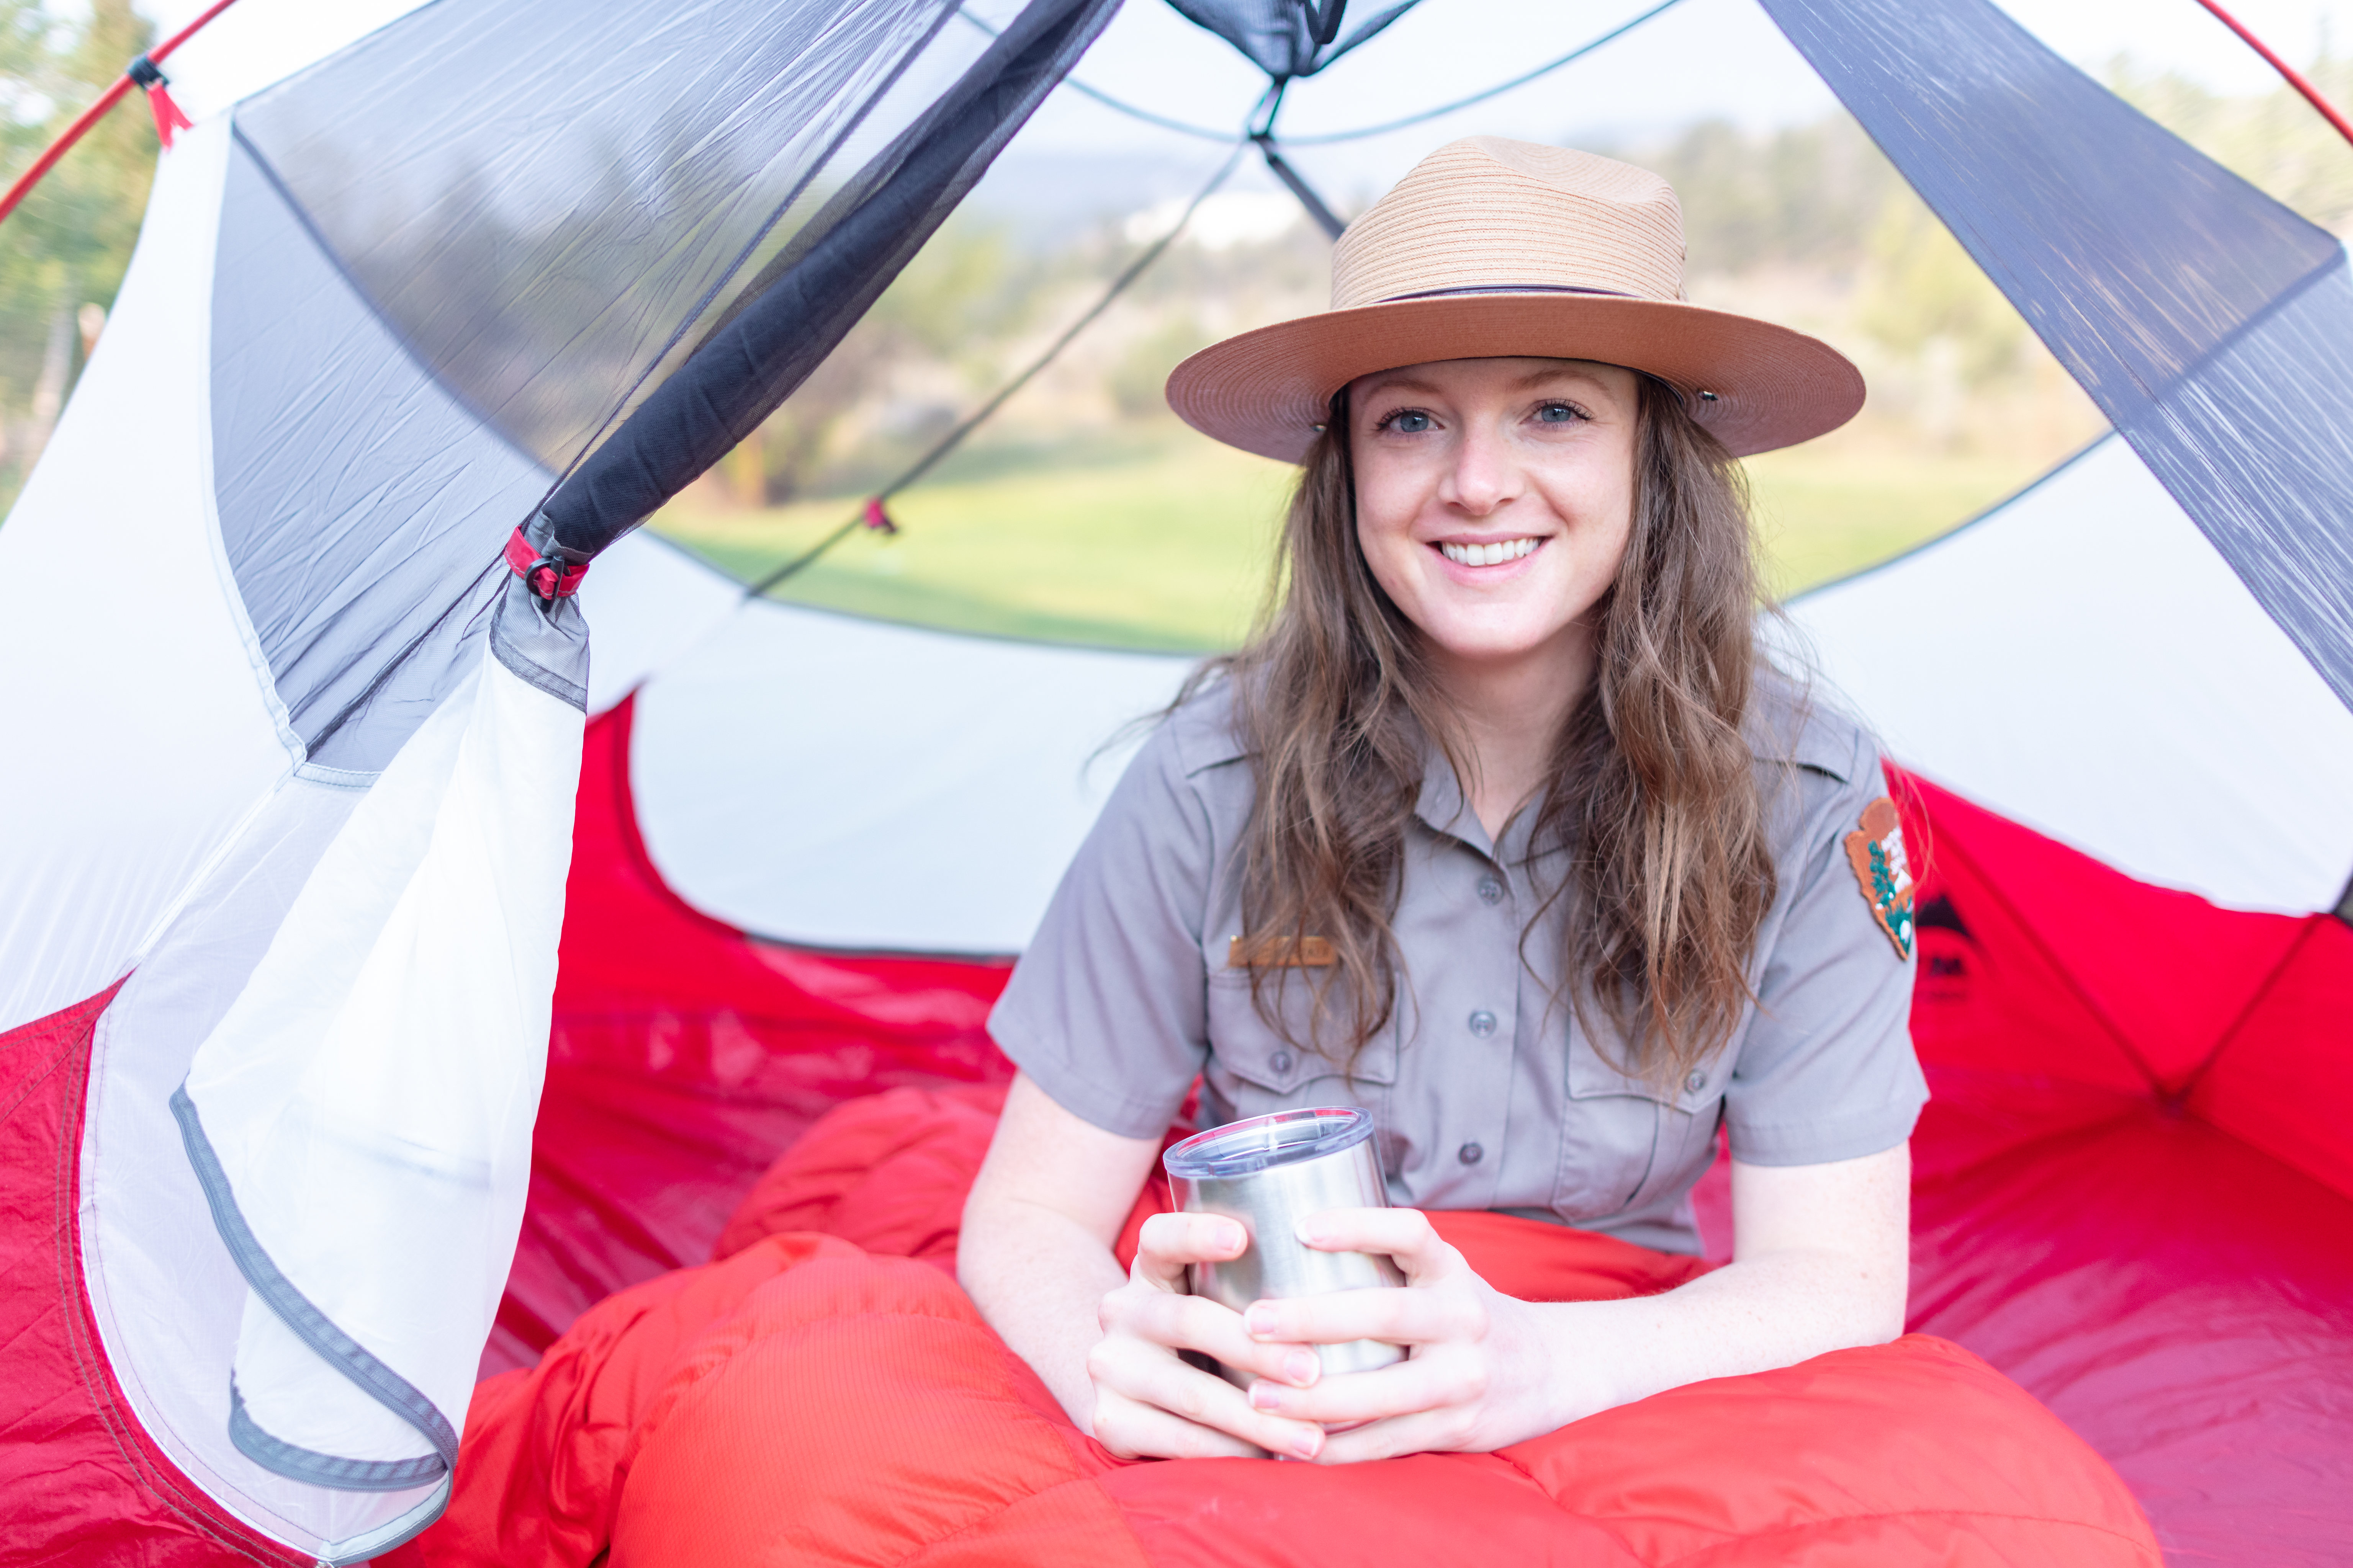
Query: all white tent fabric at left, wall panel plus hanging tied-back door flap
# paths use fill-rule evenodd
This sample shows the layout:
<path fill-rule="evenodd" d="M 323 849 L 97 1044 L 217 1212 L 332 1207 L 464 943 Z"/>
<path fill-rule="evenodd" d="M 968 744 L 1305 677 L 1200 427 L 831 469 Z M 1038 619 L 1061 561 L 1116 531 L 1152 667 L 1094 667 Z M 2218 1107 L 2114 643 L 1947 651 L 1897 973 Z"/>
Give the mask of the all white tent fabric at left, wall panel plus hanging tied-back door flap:
<path fill-rule="evenodd" d="M 501 569 L 381 778 L 308 766 L 214 505 L 231 158 L 214 120 L 162 162 L 0 529 L 0 1027 L 129 971 L 80 1131 L 108 1371 L 233 1516 L 358 1561 L 438 1512 L 522 1218 L 579 639 Z"/>

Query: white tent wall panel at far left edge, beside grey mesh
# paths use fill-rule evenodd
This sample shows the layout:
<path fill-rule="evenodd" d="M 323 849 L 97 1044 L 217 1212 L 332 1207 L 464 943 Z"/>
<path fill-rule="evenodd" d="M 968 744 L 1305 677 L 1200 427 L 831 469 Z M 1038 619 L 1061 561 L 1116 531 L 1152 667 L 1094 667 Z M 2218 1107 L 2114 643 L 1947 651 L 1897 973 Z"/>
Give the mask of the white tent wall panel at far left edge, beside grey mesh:
<path fill-rule="evenodd" d="M 228 127 L 205 125 L 162 162 L 115 315 L 0 529 L 0 1030 L 120 980 L 299 759 L 209 515 L 226 158 Z M 136 604 L 136 628 L 94 604 Z"/>

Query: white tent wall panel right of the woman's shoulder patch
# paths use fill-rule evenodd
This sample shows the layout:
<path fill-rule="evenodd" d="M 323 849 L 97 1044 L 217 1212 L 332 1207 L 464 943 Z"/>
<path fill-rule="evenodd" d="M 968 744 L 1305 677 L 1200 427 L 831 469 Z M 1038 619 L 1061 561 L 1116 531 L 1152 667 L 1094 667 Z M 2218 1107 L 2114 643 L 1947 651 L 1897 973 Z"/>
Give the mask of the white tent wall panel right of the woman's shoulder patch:
<path fill-rule="evenodd" d="M 1791 618 L 1897 762 L 2141 882 L 2353 877 L 2353 712 L 2113 435 Z"/>

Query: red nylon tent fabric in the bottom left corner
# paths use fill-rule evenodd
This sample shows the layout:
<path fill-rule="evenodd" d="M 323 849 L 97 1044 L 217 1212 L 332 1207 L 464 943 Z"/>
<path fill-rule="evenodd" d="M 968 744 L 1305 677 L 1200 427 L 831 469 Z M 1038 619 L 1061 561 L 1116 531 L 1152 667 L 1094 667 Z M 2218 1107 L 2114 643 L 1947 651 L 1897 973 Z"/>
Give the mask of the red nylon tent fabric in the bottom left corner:
<path fill-rule="evenodd" d="M 122 1399 L 82 1288 L 89 1037 L 122 983 L 0 1034 L 0 1566 L 311 1559 L 198 1493 Z"/>

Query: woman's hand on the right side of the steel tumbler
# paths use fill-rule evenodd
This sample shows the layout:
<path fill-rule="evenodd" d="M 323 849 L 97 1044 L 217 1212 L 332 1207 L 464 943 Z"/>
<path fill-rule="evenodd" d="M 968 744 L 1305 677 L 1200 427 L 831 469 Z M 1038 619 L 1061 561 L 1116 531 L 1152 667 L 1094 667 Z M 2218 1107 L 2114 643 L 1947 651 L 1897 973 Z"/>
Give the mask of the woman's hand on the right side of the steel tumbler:
<path fill-rule="evenodd" d="M 1252 1302 L 1242 1326 L 1268 1347 L 1386 1340 L 1409 1359 L 1318 1385 L 1261 1378 L 1249 1403 L 1266 1418 L 1344 1427 L 1325 1465 L 1400 1453 L 1487 1453 L 1581 1415 L 1544 1333 L 1544 1309 L 1471 1272 L 1419 1208 L 1332 1208 L 1299 1225 L 1325 1253 L 1384 1253 L 1402 1291 L 1334 1291 Z M 1247 1366 L 1257 1368 L 1259 1361 Z M 1353 1425 L 1355 1422 L 1355 1425 Z"/>

